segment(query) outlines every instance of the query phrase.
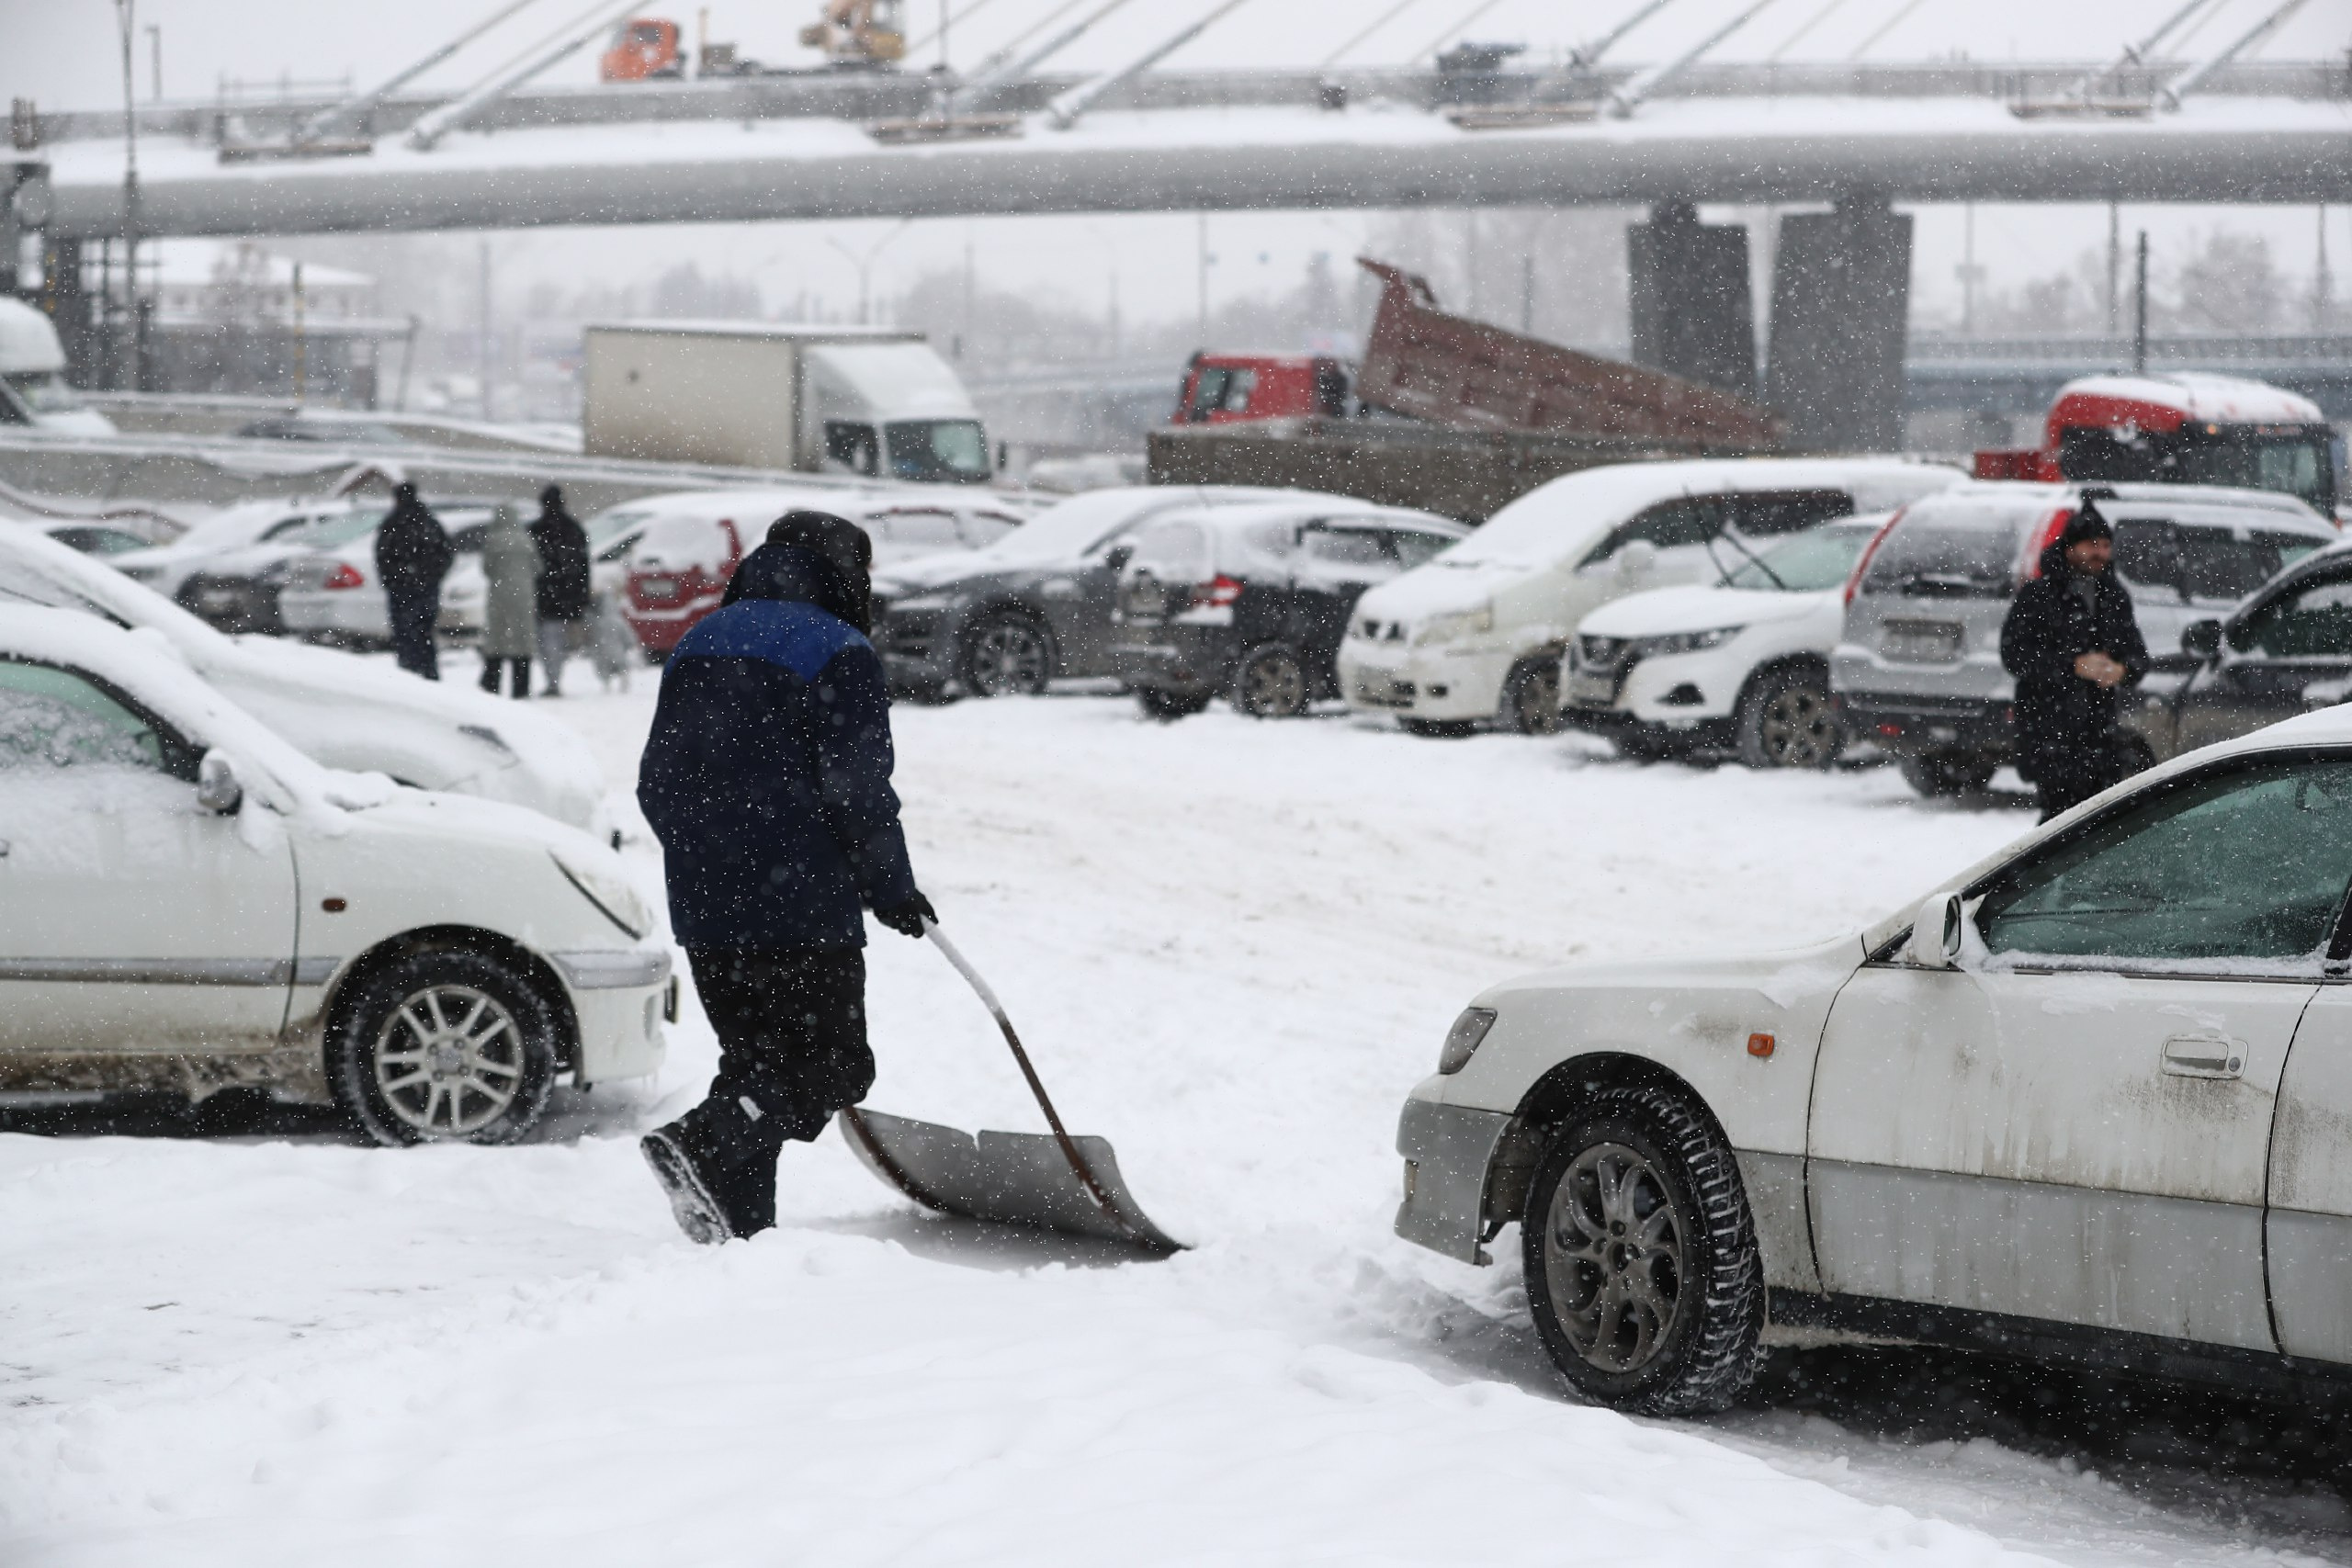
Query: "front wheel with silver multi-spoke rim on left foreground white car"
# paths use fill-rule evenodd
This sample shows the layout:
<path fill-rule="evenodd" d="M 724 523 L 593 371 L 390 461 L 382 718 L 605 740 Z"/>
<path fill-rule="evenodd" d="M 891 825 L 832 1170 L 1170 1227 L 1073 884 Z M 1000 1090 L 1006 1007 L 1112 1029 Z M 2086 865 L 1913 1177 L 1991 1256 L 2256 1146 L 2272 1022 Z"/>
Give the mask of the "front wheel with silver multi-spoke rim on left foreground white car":
<path fill-rule="evenodd" d="M 515 1143 L 548 1107 L 555 1039 L 555 1009 L 506 964 L 419 952 L 339 1009 L 327 1077 L 376 1143 Z"/>

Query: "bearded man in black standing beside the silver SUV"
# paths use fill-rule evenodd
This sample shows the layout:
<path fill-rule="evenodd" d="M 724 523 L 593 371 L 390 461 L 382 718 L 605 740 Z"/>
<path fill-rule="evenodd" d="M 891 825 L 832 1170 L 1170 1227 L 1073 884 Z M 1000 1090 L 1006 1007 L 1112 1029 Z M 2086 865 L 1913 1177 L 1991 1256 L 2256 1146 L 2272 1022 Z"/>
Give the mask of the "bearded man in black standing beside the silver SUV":
<path fill-rule="evenodd" d="M 2002 623 L 2002 665 L 2018 677 L 2018 771 L 2042 792 L 2044 823 L 2133 773 L 2117 717 L 2147 675 L 2147 644 L 2112 562 L 2114 529 L 2084 496 Z"/>

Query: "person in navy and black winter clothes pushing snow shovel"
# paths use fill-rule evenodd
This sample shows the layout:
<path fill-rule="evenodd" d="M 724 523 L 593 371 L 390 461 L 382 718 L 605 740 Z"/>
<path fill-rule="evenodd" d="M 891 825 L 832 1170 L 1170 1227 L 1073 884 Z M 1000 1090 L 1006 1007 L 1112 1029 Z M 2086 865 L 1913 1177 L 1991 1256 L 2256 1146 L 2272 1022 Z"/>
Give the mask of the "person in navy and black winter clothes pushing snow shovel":
<path fill-rule="evenodd" d="M 642 1150 L 696 1241 L 771 1227 L 783 1145 L 873 1086 L 861 910 L 915 938 L 934 919 L 889 783 L 870 567 L 856 524 L 788 512 L 661 672 L 637 804 L 720 1072 Z"/>

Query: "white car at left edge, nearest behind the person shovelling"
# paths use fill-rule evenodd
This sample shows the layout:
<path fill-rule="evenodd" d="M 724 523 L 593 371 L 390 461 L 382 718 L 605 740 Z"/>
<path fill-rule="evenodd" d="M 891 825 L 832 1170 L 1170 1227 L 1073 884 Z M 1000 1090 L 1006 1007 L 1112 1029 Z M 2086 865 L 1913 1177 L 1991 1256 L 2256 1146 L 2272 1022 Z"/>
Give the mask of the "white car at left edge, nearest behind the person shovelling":
<path fill-rule="evenodd" d="M 0 1088 L 510 1143 L 560 1074 L 661 1067 L 670 952 L 619 856 L 320 769 L 153 632 L 0 607 Z"/>

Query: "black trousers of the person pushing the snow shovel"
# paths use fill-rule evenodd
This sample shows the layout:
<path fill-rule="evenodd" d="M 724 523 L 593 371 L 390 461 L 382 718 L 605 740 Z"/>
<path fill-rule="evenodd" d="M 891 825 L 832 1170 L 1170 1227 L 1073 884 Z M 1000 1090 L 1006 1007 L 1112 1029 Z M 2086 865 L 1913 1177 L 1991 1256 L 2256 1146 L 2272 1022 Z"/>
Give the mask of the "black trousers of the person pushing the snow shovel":
<path fill-rule="evenodd" d="M 687 1112 L 736 1234 L 776 1222 L 776 1154 L 875 1084 L 861 947 L 687 947 L 720 1072 Z"/>

